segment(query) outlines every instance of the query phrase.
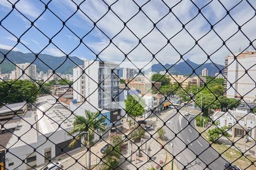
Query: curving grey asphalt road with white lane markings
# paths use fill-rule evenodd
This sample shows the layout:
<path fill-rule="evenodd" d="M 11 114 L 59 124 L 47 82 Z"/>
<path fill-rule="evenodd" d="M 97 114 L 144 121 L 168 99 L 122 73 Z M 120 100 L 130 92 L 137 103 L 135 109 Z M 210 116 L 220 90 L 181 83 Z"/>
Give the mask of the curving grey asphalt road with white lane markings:
<path fill-rule="evenodd" d="M 175 113 L 176 112 L 172 112 L 171 114 L 173 115 Z M 170 118 L 171 116 L 167 117 Z M 203 137 L 199 137 L 199 133 L 195 130 L 195 123 L 192 120 L 193 116 L 184 117 L 180 116 L 180 114 L 175 114 L 170 120 L 170 124 L 167 124 L 167 126 L 172 129 L 172 124 L 174 123 L 175 133 L 181 131 L 181 133 L 177 135 L 180 139 L 177 137 L 174 139 L 174 155 L 176 155 L 176 160 L 179 158 L 179 169 L 183 169 L 183 165 L 185 169 L 189 170 L 225 169 L 224 164 L 228 162 L 219 157 L 218 152 L 209 147 L 209 143 L 205 141 Z M 193 129 L 191 125 L 188 125 L 188 121 L 191 121 L 191 125 L 195 129 Z M 185 128 L 186 126 L 187 128 Z M 167 138 L 172 139 L 173 133 L 167 133 Z M 186 145 L 189 145 L 188 148 L 185 148 Z M 170 149 L 172 153 L 171 143 L 168 145 L 168 149 Z M 197 158 L 196 155 L 199 155 L 199 157 Z M 207 167 L 207 164 L 209 167 Z"/>

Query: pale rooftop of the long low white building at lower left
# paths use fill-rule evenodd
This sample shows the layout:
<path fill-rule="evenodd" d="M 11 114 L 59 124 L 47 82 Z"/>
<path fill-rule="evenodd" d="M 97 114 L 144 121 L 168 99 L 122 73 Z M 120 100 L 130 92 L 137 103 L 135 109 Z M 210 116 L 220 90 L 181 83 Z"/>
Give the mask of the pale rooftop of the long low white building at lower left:
<path fill-rule="evenodd" d="M 60 101 L 56 103 L 56 98 L 51 95 L 39 97 L 36 106 L 38 109 L 24 114 L 11 135 L 7 147 L 36 143 L 38 135 L 71 128 L 75 116 L 71 114 L 67 104 L 60 103 Z"/>

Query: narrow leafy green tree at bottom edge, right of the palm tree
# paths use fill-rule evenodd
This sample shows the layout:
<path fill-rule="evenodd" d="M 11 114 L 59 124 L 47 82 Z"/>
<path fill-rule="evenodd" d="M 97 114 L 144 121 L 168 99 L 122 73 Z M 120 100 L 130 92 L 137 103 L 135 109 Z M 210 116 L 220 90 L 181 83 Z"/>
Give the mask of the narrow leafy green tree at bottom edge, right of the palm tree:
<path fill-rule="evenodd" d="M 108 147 L 103 155 L 104 164 L 102 169 L 104 170 L 116 169 L 121 158 L 122 135 L 113 133 L 110 134 L 109 138 L 110 147 Z"/>

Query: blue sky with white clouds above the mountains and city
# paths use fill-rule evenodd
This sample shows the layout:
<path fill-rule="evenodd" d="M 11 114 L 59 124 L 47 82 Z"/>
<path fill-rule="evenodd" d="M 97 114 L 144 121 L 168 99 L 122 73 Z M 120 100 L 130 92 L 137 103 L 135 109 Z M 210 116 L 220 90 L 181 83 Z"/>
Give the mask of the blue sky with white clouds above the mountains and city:
<path fill-rule="evenodd" d="M 15 3 L 16 1 L 13 0 L 10 2 Z M 48 3 L 47 0 L 42 2 Z M 231 52 L 238 52 L 240 48 L 244 50 L 249 46 L 249 40 L 245 38 L 243 33 L 249 37 L 250 41 L 254 41 L 256 38 L 256 22 L 255 17 L 253 18 L 253 16 L 255 16 L 255 11 L 246 1 L 242 1 L 241 3 L 236 0 L 221 1 L 228 10 L 239 3 L 238 6 L 230 11 L 230 15 L 237 24 L 242 25 L 243 33 L 240 31 L 237 32 L 238 26 L 230 16 L 226 16 L 221 22 L 216 24 L 216 22 L 226 15 L 225 8 L 218 1 L 193 1 L 199 8 L 210 2 L 209 5 L 202 9 L 202 13 L 212 25 L 216 24 L 214 25 L 214 31 L 220 35 L 223 40 L 229 39 L 230 36 L 237 32 L 236 35 L 226 42 L 226 45 L 231 52 L 225 46 L 222 46 L 222 41 L 216 33 L 213 30 L 210 31 L 210 24 L 203 15 L 197 15 L 198 9 L 191 1 L 181 1 L 178 5 L 172 8 L 172 12 L 174 12 L 176 16 L 169 13 L 169 8 L 167 6 L 173 7 L 179 1 L 166 0 L 164 2 L 167 6 L 159 0 L 152 0 L 148 3 L 144 0 L 135 1 L 137 5 L 133 1 L 120 0 L 113 5 L 112 3 L 115 1 L 105 1 L 108 5 L 112 5 L 112 10 L 123 20 L 123 22 L 129 20 L 129 22 L 127 22 L 127 27 L 129 27 L 139 39 L 143 37 L 142 43 L 144 46 L 142 44 L 138 45 L 137 37 L 135 37 L 127 27 L 124 28 L 122 20 L 115 16 L 112 11 L 108 12 L 108 6 L 101 0 L 87 0 L 84 3 L 81 3 L 81 0 L 76 0 L 74 2 L 77 5 L 81 3 L 80 10 L 78 11 L 75 3 L 70 0 L 53 0 L 48 3 L 49 10 L 54 12 L 61 20 L 65 21 L 69 18 L 66 25 L 76 35 L 69 31 L 67 27 L 63 27 L 61 20 L 53 15 L 51 11 L 46 10 L 43 12 L 45 8 L 44 3 L 42 2 L 35 0 L 20 0 L 15 3 L 15 7 L 33 22 L 43 13 L 39 19 L 35 21 L 35 26 L 49 38 L 56 35 L 62 28 L 61 31 L 53 37 L 52 42 L 65 54 L 77 56 L 82 59 L 95 58 L 95 55 L 86 48 L 86 46 L 88 46 L 94 53 L 100 53 L 99 57 L 101 59 L 108 61 L 120 62 L 124 59 L 123 53 L 126 53 L 131 61 L 134 62 L 150 61 L 152 59 L 152 54 L 156 54 L 155 56 L 160 62 L 174 63 L 179 60 L 180 54 L 183 54 L 185 59 L 203 63 L 207 60 L 207 54 L 209 54 L 212 55 L 211 58 L 214 62 L 224 64 L 225 56 L 228 56 Z M 256 7 L 255 1 L 250 2 L 251 5 Z M 11 11 L 11 3 L 7 0 L 0 1 L 0 20 L 5 18 Z M 146 3 L 146 5 L 144 5 L 144 3 Z M 138 12 L 138 5 L 142 6 L 144 13 L 142 11 Z M 90 19 L 81 11 L 85 12 Z M 106 12 L 108 13 L 105 15 Z M 30 21 L 22 16 L 22 14 L 13 10 L 10 15 L 2 21 L 2 26 L 16 37 L 21 36 L 21 42 L 26 45 L 27 48 L 32 50 L 32 52 L 41 52 L 47 46 L 42 53 L 51 54 L 53 56 L 64 56 L 63 52 L 57 49 L 55 45 L 48 45 L 47 37 L 40 33 L 35 27 L 31 27 Z M 170 44 L 166 45 L 166 37 L 164 37 L 158 29 L 153 27 L 152 22 L 145 14 L 152 22 L 157 23 L 156 27 L 164 36 L 168 39 L 172 37 L 170 42 L 173 46 Z M 101 18 L 103 15 L 105 16 Z M 165 15 L 167 16 L 162 19 Z M 132 16 L 134 16 L 134 18 L 130 19 Z M 186 24 L 195 16 L 195 19 Z M 195 45 L 195 40 L 193 40 L 189 33 L 182 29 L 182 24 L 176 17 L 179 18 L 180 22 L 186 24 L 185 28 L 196 40 L 199 40 L 205 33 L 210 31 L 198 41 L 200 46 L 196 45 L 193 47 Z M 246 23 L 250 18 L 253 19 Z M 98 21 L 97 26 L 110 38 L 113 38 L 121 31 L 121 33 L 114 37 L 114 44 L 109 45 L 108 37 L 96 27 L 92 32 L 85 36 L 86 33 L 94 27 L 93 22 L 96 21 Z M 7 32 L 3 27 L 0 26 L 0 48 L 11 49 L 16 45 L 16 37 Z M 22 35 L 25 31 L 27 32 Z M 86 46 L 80 44 L 79 38 L 82 37 Z M 14 50 L 19 50 L 25 53 L 30 52 L 24 45 L 18 44 Z M 135 48 L 135 46 L 137 46 L 137 48 Z M 221 46 L 222 48 L 214 53 Z M 121 49 L 123 53 L 117 47 Z M 193 49 L 190 50 L 191 48 Z M 178 52 L 176 52 L 175 49 Z M 252 48 L 250 47 L 249 49 Z M 131 50 L 133 51 L 131 52 Z M 154 63 L 156 60 L 154 59 L 152 62 Z"/>

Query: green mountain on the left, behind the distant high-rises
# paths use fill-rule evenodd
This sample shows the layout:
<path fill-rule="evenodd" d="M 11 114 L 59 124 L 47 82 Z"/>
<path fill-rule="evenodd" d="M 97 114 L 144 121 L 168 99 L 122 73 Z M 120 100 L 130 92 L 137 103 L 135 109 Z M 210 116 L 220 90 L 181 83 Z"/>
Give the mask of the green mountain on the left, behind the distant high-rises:
<path fill-rule="evenodd" d="M 56 70 L 56 73 L 72 74 L 73 68 L 77 65 L 84 65 L 84 61 L 78 57 L 55 57 L 48 54 L 39 54 L 36 58 L 33 53 L 22 53 L 0 49 L 0 68 L 1 73 L 10 73 L 16 69 L 17 63 L 33 63 L 36 65 L 36 71 L 39 73 L 43 71 L 47 73 L 47 70 Z M 7 54 L 8 53 L 8 54 Z M 3 54 L 7 54 L 4 58 Z M 75 64 L 76 63 L 76 64 Z"/>

